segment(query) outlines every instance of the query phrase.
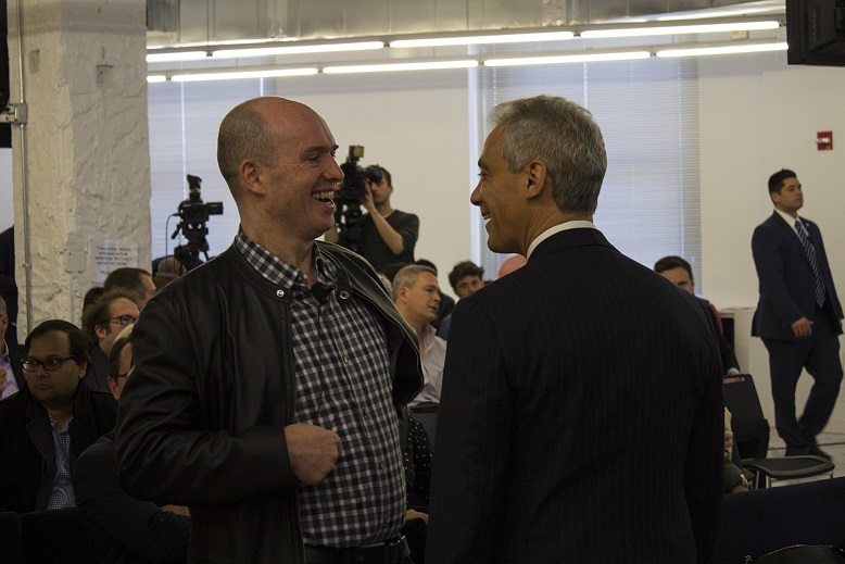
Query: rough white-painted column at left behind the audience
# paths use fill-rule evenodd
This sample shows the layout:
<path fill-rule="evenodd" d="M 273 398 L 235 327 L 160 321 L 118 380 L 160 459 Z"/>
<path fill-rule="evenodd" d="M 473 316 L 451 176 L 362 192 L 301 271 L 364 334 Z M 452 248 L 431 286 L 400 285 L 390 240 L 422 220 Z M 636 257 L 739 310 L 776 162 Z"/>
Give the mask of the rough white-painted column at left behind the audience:
<path fill-rule="evenodd" d="M 8 1 L 10 103 L 20 101 L 22 52 L 28 109 L 24 141 L 12 131 L 23 342 L 27 318 L 79 324 L 93 285 L 89 249 L 114 241 L 150 268 L 147 26 L 143 0 Z"/>

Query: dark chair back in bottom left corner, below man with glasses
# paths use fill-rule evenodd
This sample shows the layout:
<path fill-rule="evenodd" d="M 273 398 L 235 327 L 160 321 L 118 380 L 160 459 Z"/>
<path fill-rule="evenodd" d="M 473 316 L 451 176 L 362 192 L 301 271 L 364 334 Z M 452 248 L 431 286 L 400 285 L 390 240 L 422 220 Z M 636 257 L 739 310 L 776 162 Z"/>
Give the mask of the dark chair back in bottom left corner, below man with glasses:
<path fill-rule="evenodd" d="M 90 564 L 96 561 L 76 507 L 24 513 L 21 522 L 27 564 Z"/>

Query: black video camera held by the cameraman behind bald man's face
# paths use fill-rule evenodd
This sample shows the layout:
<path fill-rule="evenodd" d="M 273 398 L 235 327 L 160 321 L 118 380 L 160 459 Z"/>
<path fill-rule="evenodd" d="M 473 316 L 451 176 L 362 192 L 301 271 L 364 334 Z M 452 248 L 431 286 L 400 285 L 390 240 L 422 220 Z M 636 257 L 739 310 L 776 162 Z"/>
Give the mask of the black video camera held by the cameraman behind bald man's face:
<path fill-rule="evenodd" d="M 340 165 L 343 183 L 335 196 L 335 224 L 345 234 L 345 247 L 361 253 L 363 234 L 361 202 L 367 196 L 367 181 L 380 184 L 384 173 L 378 165 L 362 168 L 358 161 L 364 156 L 364 147 L 351 145 L 346 162 Z"/>

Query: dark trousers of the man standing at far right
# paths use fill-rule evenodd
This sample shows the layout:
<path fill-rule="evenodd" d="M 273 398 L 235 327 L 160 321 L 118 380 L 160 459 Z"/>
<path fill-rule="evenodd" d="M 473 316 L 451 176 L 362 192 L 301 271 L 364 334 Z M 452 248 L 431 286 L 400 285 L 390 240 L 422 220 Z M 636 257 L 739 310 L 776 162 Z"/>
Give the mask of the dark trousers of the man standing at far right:
<path fill-rule="evenodd" d="M 769 351 L 774 426 L 786 443 L 786 454 L 809 454 L 816 435 L 828 424 L 842 381 L 840 339 L 832 315 L 817 311 L 810 337 L 794 341 L 762 339 Z M 806 368 L 814 384 L 804 413 L 795 415 L 795 387 Z"/>

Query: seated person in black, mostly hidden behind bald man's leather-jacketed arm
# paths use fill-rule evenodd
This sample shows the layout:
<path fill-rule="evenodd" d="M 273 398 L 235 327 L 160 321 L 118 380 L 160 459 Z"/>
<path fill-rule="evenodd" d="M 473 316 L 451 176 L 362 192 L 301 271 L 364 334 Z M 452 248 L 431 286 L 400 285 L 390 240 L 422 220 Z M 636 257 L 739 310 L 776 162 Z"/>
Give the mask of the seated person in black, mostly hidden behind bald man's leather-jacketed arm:
<path fill-rule="evenodd" d="M 109 354 L 109 388 L 121 398 L 131 373 L 129 325 Z M 86 535 L 101 563 L 184 563 L 188 557 L 191 519 L 185 507 L 165 511 L 151 501 L 131 498 L 117 479 L 114 430 L 100 437 L 76 461 L 73 473 L 76 504 Z"/>

